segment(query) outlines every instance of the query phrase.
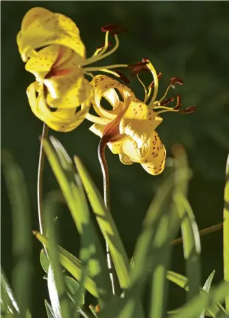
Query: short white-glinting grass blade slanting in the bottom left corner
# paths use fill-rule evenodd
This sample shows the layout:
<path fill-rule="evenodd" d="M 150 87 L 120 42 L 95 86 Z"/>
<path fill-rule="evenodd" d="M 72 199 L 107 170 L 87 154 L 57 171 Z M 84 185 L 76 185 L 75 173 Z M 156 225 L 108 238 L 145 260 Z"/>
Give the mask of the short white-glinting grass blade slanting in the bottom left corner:
<path fill-rule="evenodd" d="M 3 272 L 2 268 L 1 268 L 1 302 L 3 303 L 3 306 L 5 307 L 5 311 L 8 315 L 13 315 L 14 317 L 17 317 L 17 315 L 19 315 L 20 313 L 19 306 L 16 302 L 14 293 L 12 292 L 10 284 L 7 278 L 5 277 L 5 273 Z"/>

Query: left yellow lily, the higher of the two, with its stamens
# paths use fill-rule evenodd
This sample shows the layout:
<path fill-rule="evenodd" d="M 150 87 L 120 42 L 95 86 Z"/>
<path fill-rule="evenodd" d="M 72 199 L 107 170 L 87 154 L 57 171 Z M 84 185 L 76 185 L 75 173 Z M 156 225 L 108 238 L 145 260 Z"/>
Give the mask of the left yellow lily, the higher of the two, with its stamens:
<path fill-rule="evenodd" d="M 84 74 L 93 77 L 91 71 L 101 70 L 120 77 L 110 69 L 128 66 L 85 67 L 116 51 L 119 39 L 115 32 L 119 29 L 114 28 L 114 25 L 107 25 L 102 29 L 106 32 L 105 44 L 86 59 L 79 29 L 67 16 L 45 8 L 32 8 L 25 14 L 16 40 L 21 58 L 27 62 L 25 69 L 36 77 L 36 82 L 27 88 L 29 104 L 34 114 L 53 130 L 72 130 L 85 117 L 91 103 L 92 86 Z M 109 32 L 114 34 L 116 42 L 107 52 Z M 82 109 L 76 112 L 80 106 Z"/>

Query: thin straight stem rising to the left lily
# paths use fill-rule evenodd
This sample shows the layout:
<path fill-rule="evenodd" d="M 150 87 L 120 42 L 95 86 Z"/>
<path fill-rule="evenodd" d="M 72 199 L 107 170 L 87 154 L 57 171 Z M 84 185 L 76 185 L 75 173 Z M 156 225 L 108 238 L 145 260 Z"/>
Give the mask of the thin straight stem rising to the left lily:
<path fill-rule="evenodd" d="M 43 149 L 43 140 L 47 138 L 49 127 L 43 123 L 43 132 L 40 140 L 40 154 L 38 161 L 38 183 L 37 183 L 37 196 L 38 196 L 38 219 L 40 233 L 43 234 L 43 172 L 45 164 L 45 151 Z"/>

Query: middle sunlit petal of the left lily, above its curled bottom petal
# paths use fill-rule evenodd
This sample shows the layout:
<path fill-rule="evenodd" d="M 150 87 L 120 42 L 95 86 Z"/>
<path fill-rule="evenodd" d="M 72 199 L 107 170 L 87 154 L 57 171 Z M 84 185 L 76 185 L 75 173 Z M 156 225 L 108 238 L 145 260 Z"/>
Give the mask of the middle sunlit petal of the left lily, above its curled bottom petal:
<path fill-rule="evenodd" d="M 76 69 L 64 76 L 53 76 L 44 80 L 48 88 L 47 103 L 54 108 L 76 108 L 91 103 L 91 84 L 84 79 L 82 69 Z"/>

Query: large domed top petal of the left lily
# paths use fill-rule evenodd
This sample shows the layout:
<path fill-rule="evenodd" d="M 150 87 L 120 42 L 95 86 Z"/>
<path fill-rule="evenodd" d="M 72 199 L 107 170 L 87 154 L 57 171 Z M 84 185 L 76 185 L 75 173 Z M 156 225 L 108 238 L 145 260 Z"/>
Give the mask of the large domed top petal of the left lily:
<path fill-rule="evenodd" d="M 25 14 L 21 31 L 17 36 L 23 60 L 26 61 L 34 49 L 57 44 L 73 49 L 84 62 L 85 47 L 75 23 L 63 14 L 52 13 L 43 8 L 38 8 L 34 12 L 29 10 Z"/>

